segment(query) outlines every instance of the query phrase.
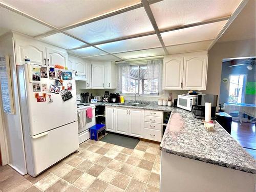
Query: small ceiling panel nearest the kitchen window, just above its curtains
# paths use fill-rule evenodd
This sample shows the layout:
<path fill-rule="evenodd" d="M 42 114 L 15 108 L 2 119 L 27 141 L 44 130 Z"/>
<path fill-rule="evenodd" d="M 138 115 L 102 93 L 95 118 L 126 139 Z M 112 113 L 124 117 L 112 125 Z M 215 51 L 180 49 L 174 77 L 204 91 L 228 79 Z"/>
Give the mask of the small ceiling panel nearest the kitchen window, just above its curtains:
<path fill-rule="evenodd" d="M 115 55 L 122 59 L 133 59 L 133 58 L 164 55 L 164 50 L 163 48 L 155 48 L 155 49 L 147 49 L 147 50 L 140 50 L 140 51 L 125 52 L 125 53 L 117 53 Z"/>

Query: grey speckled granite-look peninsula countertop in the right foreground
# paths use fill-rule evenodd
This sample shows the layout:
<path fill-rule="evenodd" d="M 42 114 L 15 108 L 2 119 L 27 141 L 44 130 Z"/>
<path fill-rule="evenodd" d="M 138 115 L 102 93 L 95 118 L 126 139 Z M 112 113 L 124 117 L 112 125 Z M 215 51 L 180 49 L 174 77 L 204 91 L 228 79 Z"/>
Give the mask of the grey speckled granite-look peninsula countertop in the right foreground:
<path fill-rule="evenodd" d="M 215 131 L 204 129 L 203 121 L 188 111 L 173 108 L 160 150 L 255 174 L 255 160 L 215 121 Z"/>

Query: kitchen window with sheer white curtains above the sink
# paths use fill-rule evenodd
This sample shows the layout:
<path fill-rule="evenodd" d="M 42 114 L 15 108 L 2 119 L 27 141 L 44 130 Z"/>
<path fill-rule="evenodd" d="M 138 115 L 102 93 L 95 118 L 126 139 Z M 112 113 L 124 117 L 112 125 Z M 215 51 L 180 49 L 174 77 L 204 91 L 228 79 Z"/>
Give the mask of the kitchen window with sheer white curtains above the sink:
<path fill-rule="evenodd" d="M 120 63 L 117 69 L 121 94 L 159 94 L 162 86 L 162 59 Z"/>

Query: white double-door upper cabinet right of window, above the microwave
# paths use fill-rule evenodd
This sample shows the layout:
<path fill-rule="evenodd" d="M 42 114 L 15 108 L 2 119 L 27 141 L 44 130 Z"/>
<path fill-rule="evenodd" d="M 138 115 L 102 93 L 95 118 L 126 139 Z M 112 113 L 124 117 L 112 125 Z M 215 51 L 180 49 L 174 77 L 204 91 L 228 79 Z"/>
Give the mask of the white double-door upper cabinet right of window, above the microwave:
<path fill-rule="evenodd" d="M 163 89 L 206 90 L 207 51 L 164 56 Z"/>

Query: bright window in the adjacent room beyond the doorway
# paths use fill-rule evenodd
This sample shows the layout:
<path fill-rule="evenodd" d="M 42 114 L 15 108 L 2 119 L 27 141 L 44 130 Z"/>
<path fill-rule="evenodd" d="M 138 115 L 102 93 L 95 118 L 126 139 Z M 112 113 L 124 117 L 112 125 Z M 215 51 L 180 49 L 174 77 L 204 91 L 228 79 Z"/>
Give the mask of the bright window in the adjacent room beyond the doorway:
<path fill-rule="evenodd" d="M 244 102 L 244 85 L 246 75 L 230 75 L 229 76 L 229 93 L 228 102 L 242 103 Z"/>

